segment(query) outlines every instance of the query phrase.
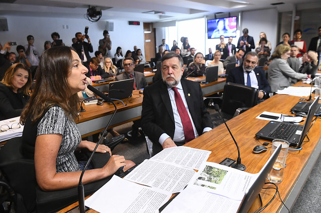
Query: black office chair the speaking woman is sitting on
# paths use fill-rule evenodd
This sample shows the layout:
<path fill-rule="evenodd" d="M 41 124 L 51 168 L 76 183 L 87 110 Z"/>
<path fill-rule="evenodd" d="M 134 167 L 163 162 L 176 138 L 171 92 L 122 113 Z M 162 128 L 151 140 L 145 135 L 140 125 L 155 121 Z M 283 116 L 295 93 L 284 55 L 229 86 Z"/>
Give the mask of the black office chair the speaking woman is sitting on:
<path fill-rule="evenodd" d="M 95 159 L 93 158 L 92 161 L 93 167 L 102 167 L 108 161 L 109 157 L 101 154 L 105 153 L 95 153 Z M 24 204 L 23 207 L 28 212 L 35 210 L 38 212 L 57 211 L 78 200 L 77 187 L 57 191 L 40 189 L 36 181 L 34 160 L 27 159 L 22 155 L 22 137 L 10 139 L 0 149 L 0 170 L 5 178 L 3 181 L 13 189 L 16 196 L 22 197 L 20 204 Z M 95 192 L 110 178 L 111 176 L 85 184 L 85 196 Z M 12 199 L 8 200 L 13 201 Z"/>

